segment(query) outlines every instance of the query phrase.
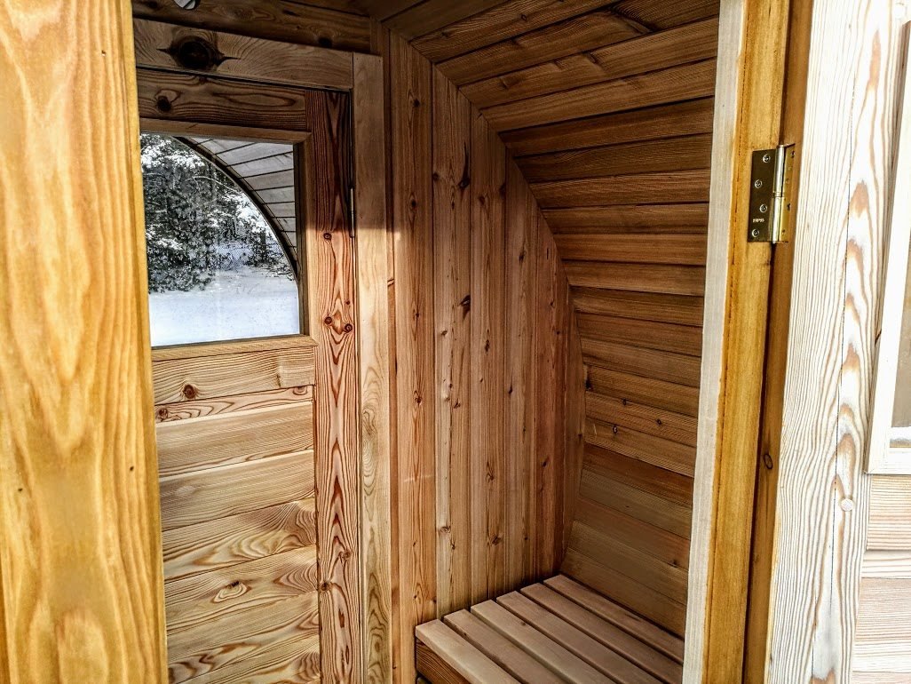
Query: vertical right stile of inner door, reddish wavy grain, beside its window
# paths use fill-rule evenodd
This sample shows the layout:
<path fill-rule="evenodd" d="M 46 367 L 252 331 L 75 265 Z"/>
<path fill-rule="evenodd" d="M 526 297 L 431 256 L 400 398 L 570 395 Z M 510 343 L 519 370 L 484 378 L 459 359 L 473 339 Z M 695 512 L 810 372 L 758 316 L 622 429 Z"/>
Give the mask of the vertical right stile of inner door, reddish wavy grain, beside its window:
<path fill-rule="evenodd" d="M 312 91 L 307 150 L 307 272 L 316 350 L 317 520 L 322 679 L 363 677 L 360 392 L 354 244 L 349 230 L 351 128 L 348 95 Z"/>

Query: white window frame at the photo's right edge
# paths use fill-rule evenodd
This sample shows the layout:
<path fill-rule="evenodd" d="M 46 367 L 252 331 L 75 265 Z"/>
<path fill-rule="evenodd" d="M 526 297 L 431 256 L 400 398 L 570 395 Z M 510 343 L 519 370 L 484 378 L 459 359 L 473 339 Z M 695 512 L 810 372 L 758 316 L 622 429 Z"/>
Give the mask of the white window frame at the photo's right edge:
<path fill-rule="evenodd" d="M 867 448 L 867 472 L 911 475 L 911 452 L 893 448 L 890 439 L 896 401 L 898 350 L 905 312 L 908 247 L 911 244 L 911 24 L 903 29 L 906 63 L 902 75 L 903 98 L 896 140 L 895 183 L 892 188 L 891 226 L 885 244 L 885 282 L 882 295 L 882 328 L 876 355 L 873 421 Z"/>

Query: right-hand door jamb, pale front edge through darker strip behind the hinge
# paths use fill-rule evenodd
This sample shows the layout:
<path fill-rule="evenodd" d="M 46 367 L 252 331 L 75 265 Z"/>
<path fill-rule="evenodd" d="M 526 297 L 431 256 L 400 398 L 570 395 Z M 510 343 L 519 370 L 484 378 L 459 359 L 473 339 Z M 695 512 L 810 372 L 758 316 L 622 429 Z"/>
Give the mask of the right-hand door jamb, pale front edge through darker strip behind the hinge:
<path fill-rule="evenodd" d="M 767 472 L 777 472 L 777 453 L 765 437 L 777 443 L 781 431 L 772 409 L 783 391 L 787 336 L 786 326 L 770 326 L 770 316 L 777 322 L 788 315 L 793 252 L 788 244 L 748 243 L 747 217 L 752 151 L 798 142 L 803 130 L 802 40 L 810 7 L 803 0 L 721 4 L 683 665 L 688 684 L 764 678 L 773 544 L 773 526 L 765 523 L 774 515 L 767 504 L 775 487 Z"/>

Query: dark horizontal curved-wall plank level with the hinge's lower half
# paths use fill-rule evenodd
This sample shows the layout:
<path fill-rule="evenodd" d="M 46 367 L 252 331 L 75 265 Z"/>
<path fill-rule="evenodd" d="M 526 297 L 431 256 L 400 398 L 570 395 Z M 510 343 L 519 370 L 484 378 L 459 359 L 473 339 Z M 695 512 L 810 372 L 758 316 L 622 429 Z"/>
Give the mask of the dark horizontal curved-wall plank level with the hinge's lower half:
<path fill-rule="evenodd" d="M 544 212 L 554 233 L 707 233 L 709 205 L 627 204 Z"/>

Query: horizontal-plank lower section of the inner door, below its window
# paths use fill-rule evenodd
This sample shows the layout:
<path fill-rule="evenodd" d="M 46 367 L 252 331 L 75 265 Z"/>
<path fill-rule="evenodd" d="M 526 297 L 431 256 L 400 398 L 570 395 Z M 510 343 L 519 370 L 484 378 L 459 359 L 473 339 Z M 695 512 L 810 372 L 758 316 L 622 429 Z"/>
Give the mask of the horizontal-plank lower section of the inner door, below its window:
<path fill-rule="evenodd" d="M 153 352 L 169 681 L 319 679 L 313 341 Z"/>

